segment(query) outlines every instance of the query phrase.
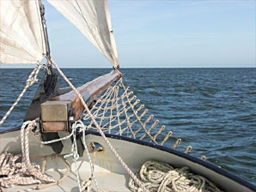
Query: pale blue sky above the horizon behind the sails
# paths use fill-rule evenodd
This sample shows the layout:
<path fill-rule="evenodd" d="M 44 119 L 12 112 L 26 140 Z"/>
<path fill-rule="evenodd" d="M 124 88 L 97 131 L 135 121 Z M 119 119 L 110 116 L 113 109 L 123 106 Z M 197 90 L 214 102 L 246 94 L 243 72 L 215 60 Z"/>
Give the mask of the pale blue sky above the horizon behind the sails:
<path fill-rule="evenodd" d="M 46 1 L 63 68 L 111 64 Z M 255 1 L 109 1 L 121 68 L 255 67 Z"/>

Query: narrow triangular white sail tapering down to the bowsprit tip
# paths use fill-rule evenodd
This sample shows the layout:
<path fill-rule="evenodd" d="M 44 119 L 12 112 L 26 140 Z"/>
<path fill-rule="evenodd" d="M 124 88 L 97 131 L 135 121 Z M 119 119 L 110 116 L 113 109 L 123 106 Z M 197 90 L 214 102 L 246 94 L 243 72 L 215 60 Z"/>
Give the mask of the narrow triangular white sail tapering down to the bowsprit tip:
<path fill-rule="evenodd" d="M 107 57 L 119 66 L 107 0 L 47 0 Z"/>

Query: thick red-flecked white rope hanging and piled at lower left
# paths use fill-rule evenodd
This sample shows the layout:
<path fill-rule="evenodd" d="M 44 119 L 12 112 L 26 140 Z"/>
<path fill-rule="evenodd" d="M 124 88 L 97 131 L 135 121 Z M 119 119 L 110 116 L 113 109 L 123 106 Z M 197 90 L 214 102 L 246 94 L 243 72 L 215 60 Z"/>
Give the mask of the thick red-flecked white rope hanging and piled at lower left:
<path fill-rule="evenodd" d="M 10 153 L 2 153 L 0 156 L 0 187 L 12 187 L 15 184 L 29 185 L 35 183 L 55 182 L 51 177 L 41 173 L 40 166 L 30 162 L 28 149 L 28 133 L 31 129 L 37 129 L 39 124 L 34 121 L 27 121 L 21 126 L 21 163 L 15 163 L 19 158 Z M 27 189 L 27 190 L 34 190 Z"/>

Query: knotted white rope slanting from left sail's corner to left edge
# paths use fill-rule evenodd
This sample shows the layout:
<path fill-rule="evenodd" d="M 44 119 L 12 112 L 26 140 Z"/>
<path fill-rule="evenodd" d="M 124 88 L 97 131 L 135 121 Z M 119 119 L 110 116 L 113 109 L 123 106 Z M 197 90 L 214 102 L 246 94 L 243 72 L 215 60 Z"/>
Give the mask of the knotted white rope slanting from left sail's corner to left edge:
<path fill-rule="evenodd" d="M 37 64 L 37 66 L 34 68 L 34 70 L 31 72 L 31 74 L 28 76 L 27 81 L 26 81 L 26 86 L 23 88 L 21 94 L 19 95 L 19 97 L 15 100 L 15 103 L 13 105 L 11 105 L 11 107 L 9 108 L 9 110 L 5 113 L 5 115 L 3 116 L 3 118 L 0 121 L 0 127 L 2 126 L 3 122 L 5 121 L 5 119 L 9 116 L 9 114 L 11 113 L 11 111 L 13 111 L 13 109 L 15 108 L 15 106 L 19 103 L 19 101 L 21 100 L 22 96 L 24 95 L 24 93 L 27 91 L 27 88 L 32 86 L 34 84 L 34 82 L 38 81 L 37 79 L 37 75 L 40 72 L 40 68 L 41 65 Z"/>

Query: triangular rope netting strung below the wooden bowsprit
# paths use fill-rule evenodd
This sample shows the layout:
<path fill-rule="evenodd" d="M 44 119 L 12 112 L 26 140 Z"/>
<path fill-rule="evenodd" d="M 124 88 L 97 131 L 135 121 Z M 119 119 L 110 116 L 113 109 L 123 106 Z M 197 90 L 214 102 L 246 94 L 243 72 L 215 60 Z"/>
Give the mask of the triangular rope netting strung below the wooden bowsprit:
<path fill-rule="evenodd" d="M 130 88 L 125 87 L 122 79 L 95 99 L 90 111 L 105 133 L 124 135 L 160 145 L 168 141 L 173 134 L 149 113 Z M 97 129 L 87 112 L 82 114 L 82 119 L 87 129 Z M 173 148 L 181 142 L 181 139 L 175 140 Z M 186 153 L 191 149 L 192 147 L 187 147 Z"/>

